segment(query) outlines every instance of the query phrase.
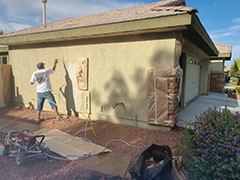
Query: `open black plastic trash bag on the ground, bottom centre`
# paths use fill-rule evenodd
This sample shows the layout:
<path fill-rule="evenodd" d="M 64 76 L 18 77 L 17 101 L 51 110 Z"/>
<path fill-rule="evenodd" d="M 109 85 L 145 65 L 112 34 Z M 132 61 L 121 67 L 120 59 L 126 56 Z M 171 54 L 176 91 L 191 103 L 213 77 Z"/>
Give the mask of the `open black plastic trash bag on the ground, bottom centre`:
<path fill-rule="evenodd" d="M 168 146 L 152 144 L 128 166 L 132 180 L 172 180 L 172 152 Z"/>

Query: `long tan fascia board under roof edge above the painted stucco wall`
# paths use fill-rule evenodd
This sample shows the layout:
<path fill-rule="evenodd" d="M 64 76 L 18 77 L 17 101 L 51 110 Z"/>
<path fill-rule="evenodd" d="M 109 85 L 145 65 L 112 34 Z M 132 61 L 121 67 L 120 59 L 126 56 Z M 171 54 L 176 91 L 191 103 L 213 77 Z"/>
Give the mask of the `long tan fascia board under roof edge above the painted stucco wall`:
<path fill-rule="evenodd" d="M 38 42 L 53 42 L 62 40 L 81 39 L 88 37 L 105 37 L 119 34 L 136 34 L 147 32 L 162 32 L 169 30 L 186 29 L 191 24 L 191 15 L 173 15 L 167 17 L 159 17 L 152 19 L 143 19 L 137 21 L 129 21 L 122 23 L 41 32 L 34 34 L 10 36 L 0 38 L 0 44 L 15 45 L 29 44 Z"/>

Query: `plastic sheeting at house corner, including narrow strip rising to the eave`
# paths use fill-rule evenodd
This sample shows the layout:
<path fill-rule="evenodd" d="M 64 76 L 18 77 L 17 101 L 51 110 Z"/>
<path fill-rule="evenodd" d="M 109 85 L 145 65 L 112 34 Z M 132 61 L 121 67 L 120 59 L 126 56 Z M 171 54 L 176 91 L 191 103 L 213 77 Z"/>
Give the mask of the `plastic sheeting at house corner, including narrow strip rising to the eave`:
<path fill-rule="evenodd" d="M 175 118 L 169 119 L 169 94 L 168 83 L 170 77 L 180 79 L 177 89 L 177 101 L 180 101 L 182 90 L 182 69 L 179 66 L 179 59 L 183 46 L 182 34 L 179 33 L 175 43 L 175 58 L 173 69 L 149 69 L 147 75 L 147 97 L 148 97 L 148 123 L 161 126 L 175 125 Z M 173 115 L 174 116 L 174 115 Z"/>

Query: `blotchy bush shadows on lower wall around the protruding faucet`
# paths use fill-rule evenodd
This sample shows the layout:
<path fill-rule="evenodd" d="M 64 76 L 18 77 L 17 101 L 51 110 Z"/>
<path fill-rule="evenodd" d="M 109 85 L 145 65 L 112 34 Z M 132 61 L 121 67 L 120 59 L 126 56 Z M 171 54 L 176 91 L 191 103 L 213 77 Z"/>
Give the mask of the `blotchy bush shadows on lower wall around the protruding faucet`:
<path fill-rule="evenodd" d="M 114 111 L 116 117 L 135 120 L 136 114 L 147 111 L 146 107 L 142 106 L 147 101 L 144 99 L 146 97 L 145 73 L 143 69 L 137 68 L 133 76 L 129 77 L 134 82 L 135 87 L 129 87 L 127 83 L 129 80 L 126 81 L 123 73 L 115 70 L 110 80 L 104 85 L 107 101 L 101 102 L 99 90 L 93 89 L 92 102 L 99 106 L 103 113 Z M 132 94 L 132 89 L 136 89 L 134 94 Z"/>

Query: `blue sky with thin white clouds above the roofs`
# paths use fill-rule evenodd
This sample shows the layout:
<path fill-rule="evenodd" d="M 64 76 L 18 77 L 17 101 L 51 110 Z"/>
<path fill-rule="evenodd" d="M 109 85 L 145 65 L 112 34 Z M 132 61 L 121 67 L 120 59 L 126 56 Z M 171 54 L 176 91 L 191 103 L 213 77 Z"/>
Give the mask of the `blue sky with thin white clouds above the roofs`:
<path fill-rule="evenodd" d="M 161 0 L 48 0 L 47 23 Z M 240 0 L 186 0 L 215 43 L 231 45 L 231 65 L 240 58 Z M 9 33 L 42 24 L 42 0 L 0 0 L 0 30 Z"/>

